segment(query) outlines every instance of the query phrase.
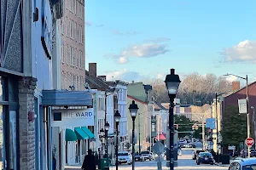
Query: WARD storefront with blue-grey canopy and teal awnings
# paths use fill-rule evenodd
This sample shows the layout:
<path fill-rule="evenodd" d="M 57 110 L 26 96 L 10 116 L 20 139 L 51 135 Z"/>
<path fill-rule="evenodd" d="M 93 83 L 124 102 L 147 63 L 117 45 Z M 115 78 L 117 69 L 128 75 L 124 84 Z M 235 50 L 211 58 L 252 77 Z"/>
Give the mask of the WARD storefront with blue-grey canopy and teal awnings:
<path fill-rule="evenodd" d="M 51 106 L 49 117 L 52 161 L 59 169 L 80 164 L 95 136 L 91 94 L 87 91 L 43 91 L 43 105 Z"/>

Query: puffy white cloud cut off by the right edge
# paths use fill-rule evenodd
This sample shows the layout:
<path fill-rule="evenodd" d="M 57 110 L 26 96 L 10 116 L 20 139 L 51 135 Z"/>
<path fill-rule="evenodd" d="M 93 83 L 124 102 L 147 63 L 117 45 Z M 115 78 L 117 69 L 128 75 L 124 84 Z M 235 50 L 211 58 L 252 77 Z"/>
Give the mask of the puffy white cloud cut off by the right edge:
<path fill-rule="evenodd" d="M 224 48 L 221 52 L 226 62 L 255 62 L 256 61 L 256 41 L 245 40 L 239 42 L 231 48 Z"/>

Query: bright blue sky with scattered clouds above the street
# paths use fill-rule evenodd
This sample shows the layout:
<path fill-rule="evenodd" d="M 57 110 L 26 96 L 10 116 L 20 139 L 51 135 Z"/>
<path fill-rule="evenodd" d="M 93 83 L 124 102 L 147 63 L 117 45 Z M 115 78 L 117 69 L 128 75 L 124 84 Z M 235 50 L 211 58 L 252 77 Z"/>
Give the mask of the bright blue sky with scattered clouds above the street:
<path fill-rule="evenodd" d="M 85 60 L 108 80 L 164 79 L 174 68 L 256 81 L 256 1 L 86 0 Z"/>

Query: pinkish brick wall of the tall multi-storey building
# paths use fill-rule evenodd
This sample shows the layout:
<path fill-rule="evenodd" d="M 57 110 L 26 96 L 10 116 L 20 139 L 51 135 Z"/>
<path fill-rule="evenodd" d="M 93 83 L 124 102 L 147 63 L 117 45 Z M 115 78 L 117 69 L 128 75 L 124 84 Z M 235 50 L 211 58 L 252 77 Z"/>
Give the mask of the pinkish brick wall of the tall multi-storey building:
<path fill-rule="evenodd" d="M 79 16 L 80 10 L 82 10 L 82 17 Z M 71 21 L 73 22 L 72 28 Z M 73 37 L 71 37 L 71 30 L 73 30 Z M 78 33 L 79 30 L 82 32 Z M 82 34 L 82 42 L 79 42 L 80 34 Z M 69 89 L 69 86 L 74 85 L 75 90 L 84 89 L 84 0 L 65 1 L 64 15 L 61 19 L 61 37 L 61 88 Z M 81 63 L 81 67 L 79 65 L 76 66 L 75 63 L 73 65 L 71 64 L 71 47 L 73 48 L 73 54 L 77 56 L 75 59 L 77 63 Z M 81 57 L 80 61 L 79 57 Z"/>

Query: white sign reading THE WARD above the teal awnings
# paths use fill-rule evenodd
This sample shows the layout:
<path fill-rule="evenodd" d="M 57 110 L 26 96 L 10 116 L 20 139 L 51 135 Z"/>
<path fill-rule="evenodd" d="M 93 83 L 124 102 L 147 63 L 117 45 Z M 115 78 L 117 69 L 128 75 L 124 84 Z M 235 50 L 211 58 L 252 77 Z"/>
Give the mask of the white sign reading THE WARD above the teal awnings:
<path fill-rule="evenodd" d="M 85 110 L 56 110 L 52 113 L 52 127 L 94 126 L 93 108 Z"/>

